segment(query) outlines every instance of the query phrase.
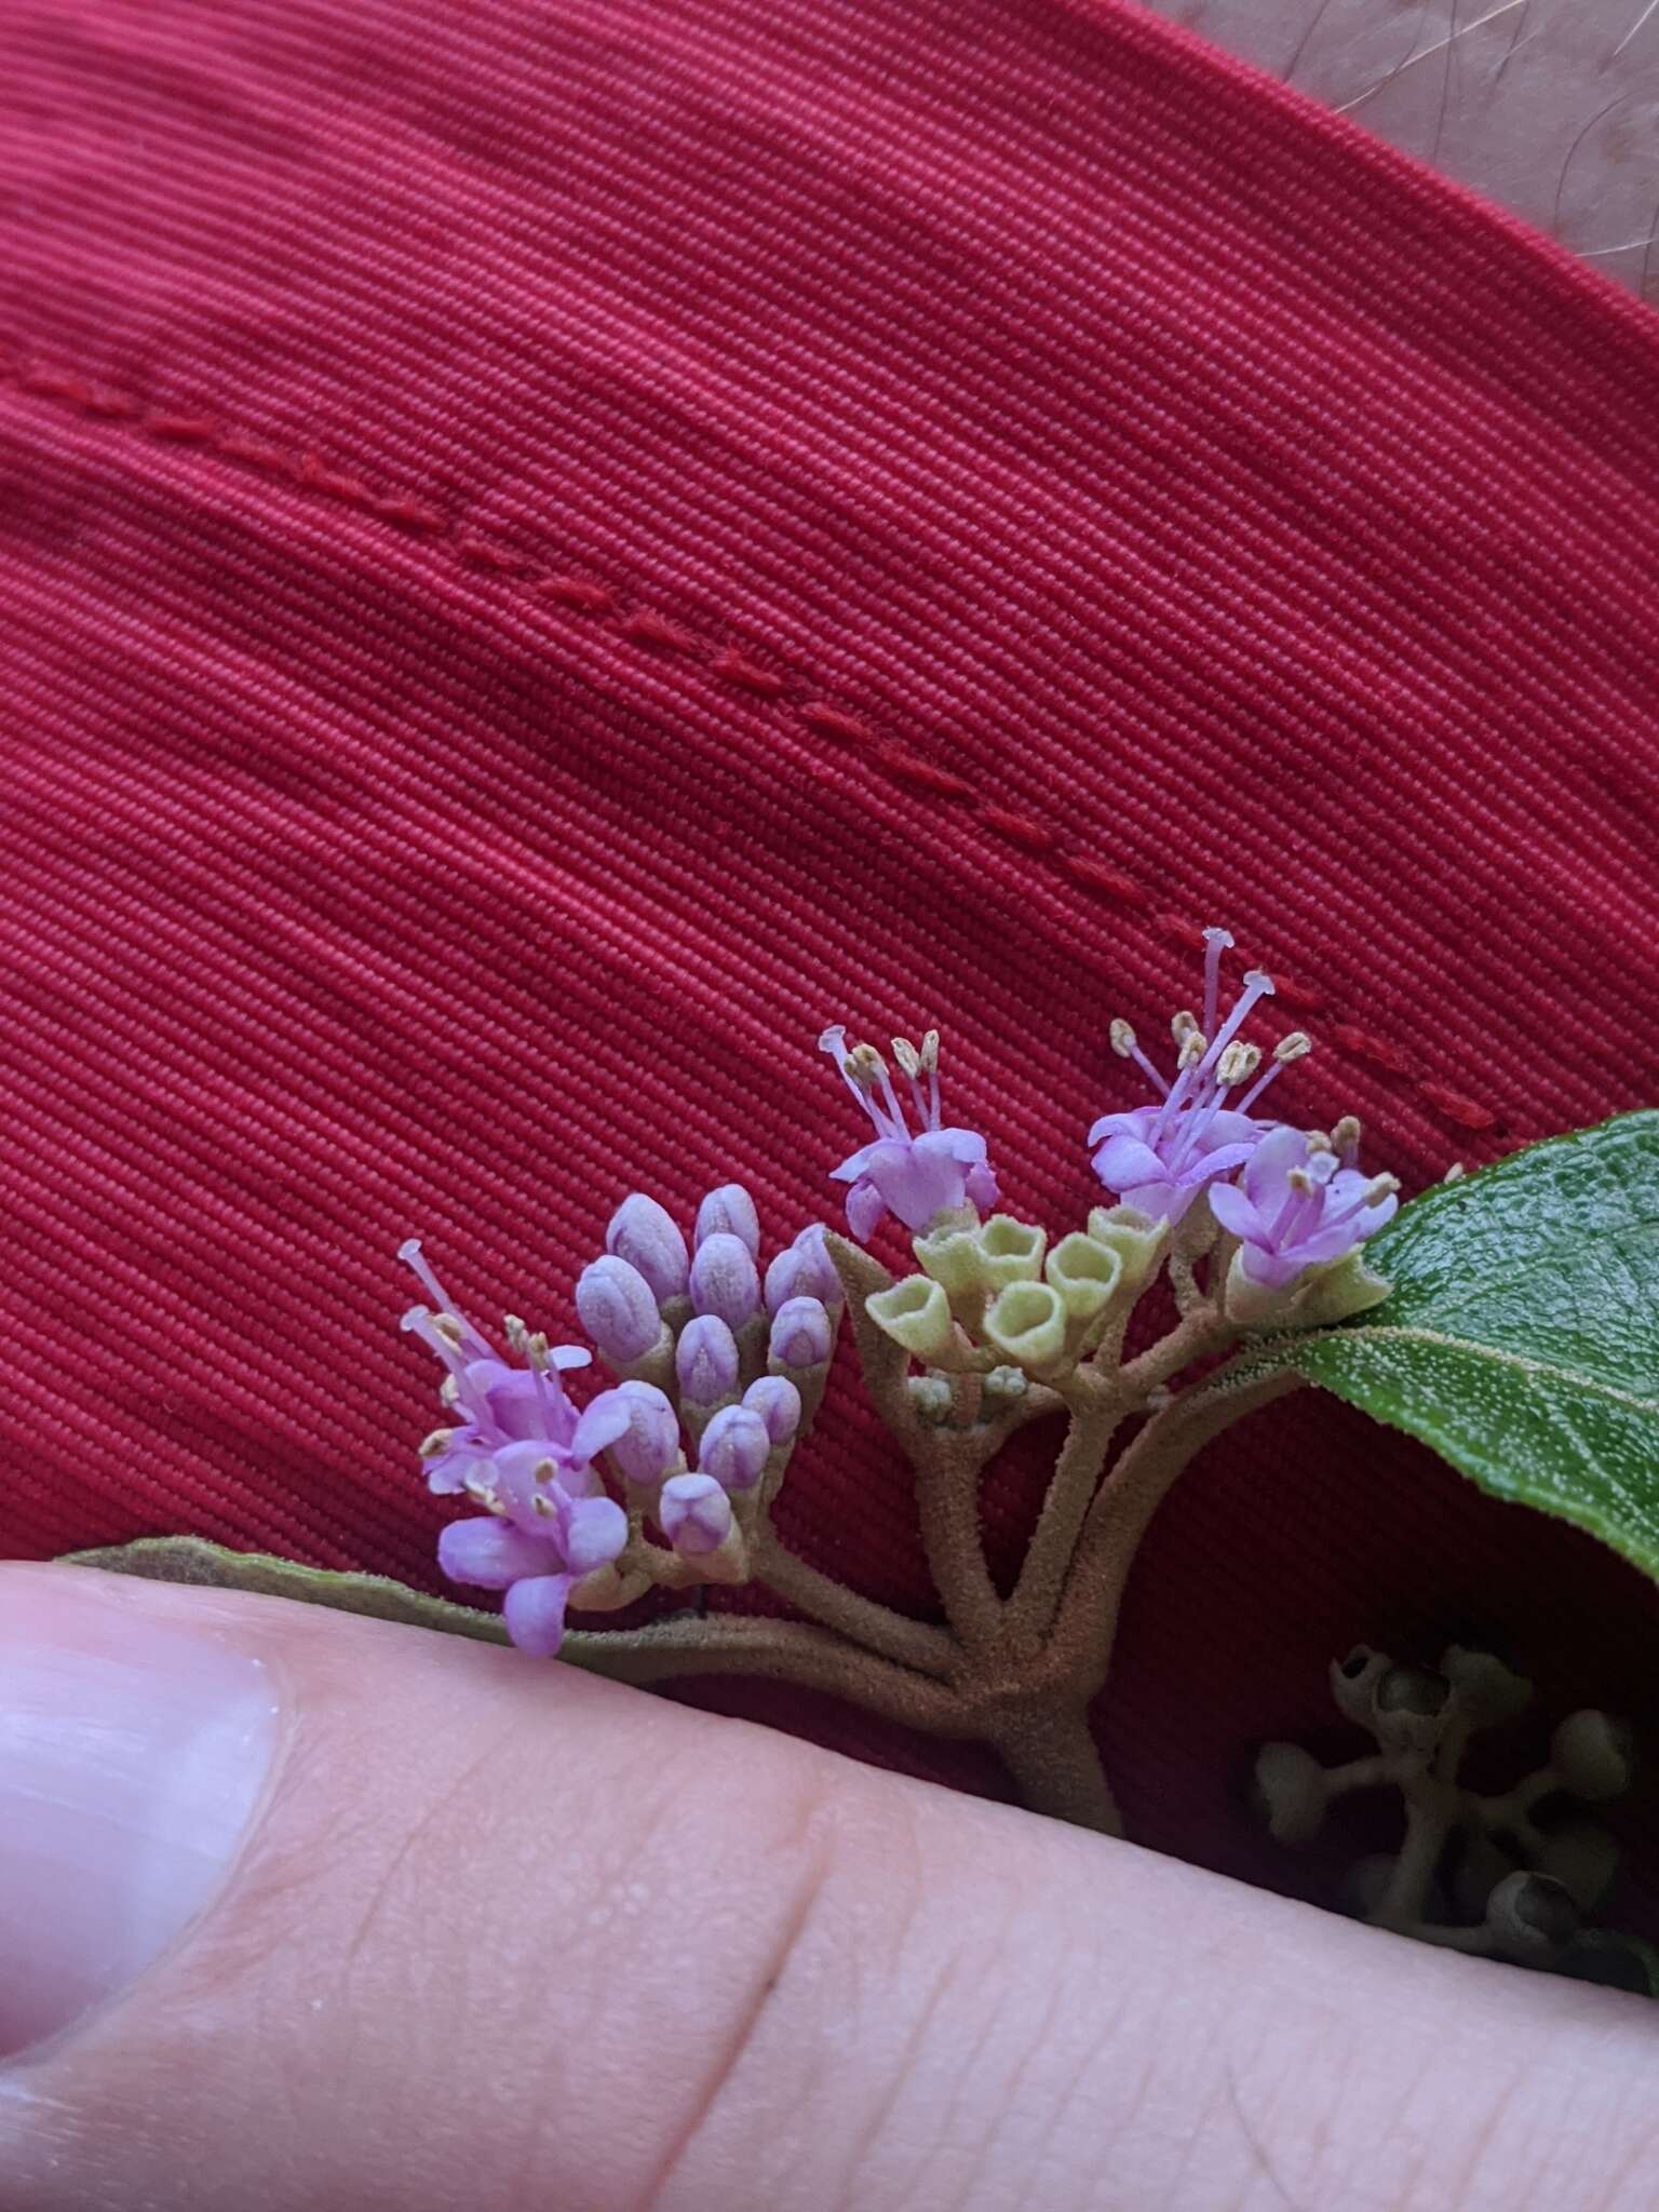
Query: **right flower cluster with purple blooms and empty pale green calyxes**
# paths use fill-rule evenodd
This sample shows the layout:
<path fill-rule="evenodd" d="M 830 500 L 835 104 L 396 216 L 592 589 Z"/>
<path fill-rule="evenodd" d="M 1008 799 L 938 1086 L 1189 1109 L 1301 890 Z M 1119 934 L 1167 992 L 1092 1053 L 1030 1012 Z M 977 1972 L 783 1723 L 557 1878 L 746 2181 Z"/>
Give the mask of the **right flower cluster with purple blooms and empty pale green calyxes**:
<path fill-rule="evenodd" d="M 1261 1113 L 1270 1086 L 1312 1046 L 1292 1031 L 1265 1055 L 1243 1035 L 1272 998 L 1261 971 L 1223 1011 L 1230 945 L 1223 929 L 1206 931 L 1201 1013 L 1170 1024 L 1172 1075 L 1152 1066 L 1128 1022 L 1113 1022 L 1115 1051 L 1157 1099 L 1095 1121 L 1093 1168 L 1117 1203 L 1053 1248 L 1013 1217 L 984 1219 L 995 1203 L 987 1144 L 940 1126 L 931 1031 L 920 1051 L 894 1040 L 916 1128 L 883 1055 L 869 1044 L 849 1051 L 845 1029 L 823 1033 L 876 1126 L 876 1141 L 834 1170 L 852 1186 L 847 1223 L 863 1241 L 891 1212 L 914 1232 L 920 1274 L 869 1301 L 876 1325 L 914 1358 L 938 1371 L 1006 1363 L 1020 1378 L 1055 1380 L 1121 1336 L 1117 1325 L 1166 1252 L 1188 1267 L 1212 1256 L 1210 1296 L 1239 1329 L 1336 1321 L 1385 1296 L 1360 1248 L 1398 1208 L 1394 1177 L 1360 1170 L 1354 1119 L 1325 1135 Z M 942 1407 L 947 1396 L 925 1389 L 918 1405 Z"/>

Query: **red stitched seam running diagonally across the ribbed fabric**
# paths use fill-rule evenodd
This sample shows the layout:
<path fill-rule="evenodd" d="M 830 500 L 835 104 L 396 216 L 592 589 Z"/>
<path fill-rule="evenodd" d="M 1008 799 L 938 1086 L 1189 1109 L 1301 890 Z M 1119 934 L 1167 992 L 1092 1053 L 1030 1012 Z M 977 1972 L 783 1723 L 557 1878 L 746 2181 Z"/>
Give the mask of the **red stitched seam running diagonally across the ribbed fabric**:
<path fill-rule="evenodd" d="M 672 622 L 653 606 L 626 606 L 622 595 L 611 584 L 602 584 L 597 577 L 564 575 L 544 566 L 531 553 L 522 553 L 500 540 L 482 535 L 480 531 L 458 526 L 453 518 L 411 493 L 376 491 L 376 487 L 365 484 L 361 478 L 354 478 L 343 469 L 332 469 L 316 453 L 285 453 L 274 445 L 265 445 L 263 438 L 252 438 L 234 425 L 219 422 L 212 416 L 181 414 L 179 409 L 168 407 L 144 407 L 139 400 L 126 398 L 108 385 L 88 385 L 82 376 L 75 376 L 69 369 L 55 369 L 20 354 L 0 354 L 0 376 L 13 383 L 20 392 L 27 392 L 31 398 L 71 407 L 75 414 L 88 416 L 91 420 L 104 422 L 113 429 L 137 431 L 168 445 L 206 447 L 221 460 L 230 460 L 243 469 L 257 469 L 261 476 L 283 476 L 301 493 L 334 500 L 338 507 L 354 507 L 380 522 L 416 529 L 429 538 L 447 538 L 453 557 L 467 568 L 484 575 L 500 575 L 504 582 L 529 584 L 551 606 L 580 615 L 582 619 L 613 619 L 617 635 L 628 644 L 644 646 L 653 653 L 692 655 L 701 659 L 710 679 L 726 688 L 748 692 L 757 708 L 779 708 L 816 737 L 830 737 L 845 745 L 865 748 L 874 765 L 891 783 L 902 783 L 911 792 L 922 790 L 964 803 L 982 830 L 1024 854 L 1026 860 L 1033 854 L 1042 854 L 1048 858 L 1051 867 L 1060 867 L 1086 891 L 1095 891 L 1115 905 L 1130 907 L 1141 914 L 1152 907 L 1152 891 L 1135 876 L 1097 860 L 1093 854 L 1068 849 L 1057 832 L 1044 827 L 1031 816 L 1011 814 L 993 801 L 978 796 L 975 787 L 964 776 L 958 776 L 953 770 L 940 768 L 933 761 L 883 739 L 883 734 L 860 714 L 849 714 L 830 699 L 794 697 L 790 679 L 781 675 L 779 668 L 750 659 L 750 655 L 737 646 L 719 646 L 701 639 L 684 628 L 684 624 Z M 1148 914 L 1148 925 L 1159 936 L 1186 949 L 1194 949 L 1203 942 L 1199 925 L 1181 914 L 1152 911 Z M 1285 982 L 1283 978 L 1276 978 L 1276 984 L 1279 998 L 1294 1011 L 1310 1015 L 1329 1013 L 1321 993 L 1310 991 L 1303 984 Z M 1352 1022 L 1336 1022 L 1329 1035 L 1332 1042 L 1347 1051 L 1354 1060 L 1365 1060 L 1369 1066 L 1409 1084 L 1444 1121 L 1453 1121 L 1458 1128 L 1467 1130 L 1502 1135 L 1504 1124 L 1491 1106 L 1482 1106 L 1478 1099 L 1464 1097 L 1460 1091 L 1420 1075 L 1409 1055 L 1385 1037 L 1374 1037 L 1367 1031 L 1356 1029 Z"/>

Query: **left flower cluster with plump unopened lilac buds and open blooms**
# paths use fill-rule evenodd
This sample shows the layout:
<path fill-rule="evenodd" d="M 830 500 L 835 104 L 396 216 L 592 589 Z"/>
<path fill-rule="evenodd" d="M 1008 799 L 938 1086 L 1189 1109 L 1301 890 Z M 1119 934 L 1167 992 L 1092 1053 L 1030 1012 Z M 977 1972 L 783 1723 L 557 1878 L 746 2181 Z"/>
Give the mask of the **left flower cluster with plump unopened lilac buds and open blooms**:
<path fill-rule="evenodd" d="M 624 1199 L 575 1285 L 617 1380 L 577 1407 L 564 1376 L 591 1365 L 586 1347 L 551 1345 L 509 1314 L 502 1356 L 420 1245 L 403 1248 L 429 1301 L 403 1325 L 440 1358 L 451 1416 L 420 1447 L 427 1484 L 480 1509 L 442 1531 L 438 1564 L 504 1593 L 522 1650 L 557 1652 L 571 1606 L 743 1579 L 745 1533 L 818 1409 L 843 1303 L 818 1225 L 765 1274 L 759 1252 L 739 1183 L 703 1199 L 690 1243 L 655 1199 Z"/>

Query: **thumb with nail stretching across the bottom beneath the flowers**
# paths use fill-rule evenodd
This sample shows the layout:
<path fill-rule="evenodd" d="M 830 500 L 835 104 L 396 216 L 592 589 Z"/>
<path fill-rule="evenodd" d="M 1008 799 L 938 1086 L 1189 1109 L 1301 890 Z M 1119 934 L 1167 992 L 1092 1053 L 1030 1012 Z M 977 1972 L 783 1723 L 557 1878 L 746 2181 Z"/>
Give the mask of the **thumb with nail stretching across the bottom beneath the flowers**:
<path fill-rule="evenodd" d="M 0 2212 L 1615 2212 L 1637 2000 L 513 1652 L 0 1571 Z"/>

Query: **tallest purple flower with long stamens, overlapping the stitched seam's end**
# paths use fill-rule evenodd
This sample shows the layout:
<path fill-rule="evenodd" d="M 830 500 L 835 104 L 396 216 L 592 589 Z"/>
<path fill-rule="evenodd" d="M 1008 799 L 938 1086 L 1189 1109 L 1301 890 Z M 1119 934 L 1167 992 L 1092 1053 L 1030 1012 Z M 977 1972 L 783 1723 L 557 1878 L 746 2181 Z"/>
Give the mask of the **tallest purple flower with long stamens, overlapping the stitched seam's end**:
<path fill-rule="evenodd" d="M 1177 1071 L 1166 1082 L 1135 1042 L 1128 1022 L 1113 1022 L 1113 1048 L 1133 1060 L 1159 1093 L 1155 1106 L 1108 1113 L 1088 1130 L 1093 1168 L 1126 1206 L 1155 1221 L 1179 1221 L 1201 1190 L 1241 1168 L 1274 1126 L 1252 1115 L 1252 1106 L 1283 1066 L 1301 1060 L 1307 1037 L 1298 1033 L 1276 1046 L 1267 1071 L 1237 1102 L 1230 1095 L 1261 1066 L 1261 1048 L 1243 1044 L 1239 1031 L 1272 978 L 1252 969 L 1245 987 L 1221 1020 L 1221 953 L 1232 945 L 1225 929 L 1203 931 L 1203 1020 L 1177 1013 Z"/>

